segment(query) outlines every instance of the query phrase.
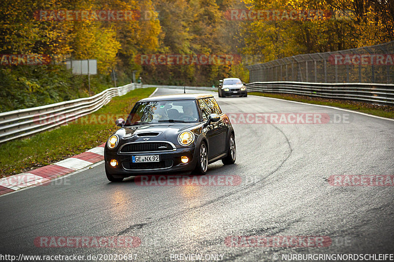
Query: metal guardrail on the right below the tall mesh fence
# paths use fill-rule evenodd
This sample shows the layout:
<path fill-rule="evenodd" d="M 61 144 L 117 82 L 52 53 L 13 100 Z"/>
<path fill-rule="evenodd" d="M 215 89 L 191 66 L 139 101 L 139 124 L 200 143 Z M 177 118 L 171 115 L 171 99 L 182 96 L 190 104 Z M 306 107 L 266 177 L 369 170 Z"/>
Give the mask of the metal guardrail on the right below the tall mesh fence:
<path fill-rule="evenodd" d="M 254 82 L 248 92 L 285 93 L 314 97 L 347 99 L 394 106 L 394 85 L 361 83 Z"/>

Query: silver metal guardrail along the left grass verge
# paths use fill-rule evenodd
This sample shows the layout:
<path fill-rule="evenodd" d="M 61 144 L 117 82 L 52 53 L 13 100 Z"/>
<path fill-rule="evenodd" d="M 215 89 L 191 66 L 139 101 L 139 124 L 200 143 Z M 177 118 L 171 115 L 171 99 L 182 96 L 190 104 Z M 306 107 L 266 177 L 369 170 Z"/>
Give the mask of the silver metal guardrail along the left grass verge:
<path fill-rule="evenodd" d="M 133 83 L 108 88 L 91 97 L 0 113 L 0 143 L 50 130 L 91 114 L 111 101 L 112 97 L 124 95 L 138 87 L 142 85 Z"/>

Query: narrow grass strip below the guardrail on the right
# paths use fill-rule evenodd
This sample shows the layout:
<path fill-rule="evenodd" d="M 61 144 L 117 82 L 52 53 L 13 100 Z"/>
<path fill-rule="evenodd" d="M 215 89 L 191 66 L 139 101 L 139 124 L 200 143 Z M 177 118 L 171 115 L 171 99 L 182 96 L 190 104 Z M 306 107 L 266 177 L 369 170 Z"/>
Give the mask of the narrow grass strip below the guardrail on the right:
<path fill-rule="evenodd" d="M 311 98 L 306 96 L 297 96 L 297 95 L 289 95 L 289 94 L 268 94 L 268 93 L 260 93 L 260 92 L 248 92 L 248 94 L 273 97 L 273 98 L 303 102 L 308 104 L 338 107 L 338 108 L 354 110 L 357 112 L 370 114 L 374 116 L 394 118 L 394 108 L 390 106 L 377 106 L 377 105 L 361 103 L 361 102 Z"/>

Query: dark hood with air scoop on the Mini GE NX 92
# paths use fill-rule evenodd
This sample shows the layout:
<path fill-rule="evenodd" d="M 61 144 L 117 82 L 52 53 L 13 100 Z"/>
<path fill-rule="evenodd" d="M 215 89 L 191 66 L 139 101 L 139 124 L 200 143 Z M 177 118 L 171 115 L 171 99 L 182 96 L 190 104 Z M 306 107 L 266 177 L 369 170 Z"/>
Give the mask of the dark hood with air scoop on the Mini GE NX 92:
<path fill-rule="evenodd" d="M 119 136 L 121 141 L 127 143 L 145 141 L 176 141 L 180 132 L 201 128 L 202 124 L 198 123 L 160 123 L 125 126 L 115 134 Z M 154 134 L 149 134 L 154 133 Z"/>

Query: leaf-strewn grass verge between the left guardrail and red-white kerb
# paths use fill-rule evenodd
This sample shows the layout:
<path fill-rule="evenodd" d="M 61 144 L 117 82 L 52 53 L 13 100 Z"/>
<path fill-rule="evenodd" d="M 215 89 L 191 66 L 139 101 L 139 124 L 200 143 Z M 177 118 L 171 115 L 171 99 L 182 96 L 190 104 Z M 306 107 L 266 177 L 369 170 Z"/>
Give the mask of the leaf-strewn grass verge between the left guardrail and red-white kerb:
<path fill-rule="evenodd" d="M 148 97 L 154 90 L 155 88 L 132 90 L 126 95 L 112 98 L 111 102 L 94 114 L 68 125 L 28 139 L 1 144 L 0 176 L 27 172 L 101 145 L 119 128 L 115 125 L 116 118 L 126 119 L 134 103 Z M 101 121 L 97 120 L 100 119 L 99 116 Z"/>

